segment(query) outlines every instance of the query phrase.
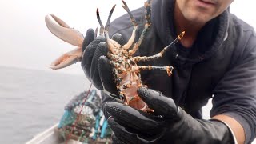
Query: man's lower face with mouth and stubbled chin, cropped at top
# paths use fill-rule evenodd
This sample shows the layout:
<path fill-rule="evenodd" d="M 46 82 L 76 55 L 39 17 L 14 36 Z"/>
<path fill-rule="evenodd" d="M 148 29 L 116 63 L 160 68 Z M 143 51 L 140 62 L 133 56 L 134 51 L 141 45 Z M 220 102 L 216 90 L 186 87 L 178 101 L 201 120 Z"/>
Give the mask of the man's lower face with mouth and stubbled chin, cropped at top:
<path fill-rule="evenodd" d="M 222 14 L 234 0 L 176 0 L 186 20 L 205 23 Z"/>

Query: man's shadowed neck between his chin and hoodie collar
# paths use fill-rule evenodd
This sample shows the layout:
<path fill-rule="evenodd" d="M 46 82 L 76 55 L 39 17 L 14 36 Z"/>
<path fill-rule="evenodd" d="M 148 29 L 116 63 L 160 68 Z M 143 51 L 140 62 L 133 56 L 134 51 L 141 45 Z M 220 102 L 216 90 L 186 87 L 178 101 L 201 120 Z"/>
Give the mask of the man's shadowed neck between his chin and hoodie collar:
<path fill-rule="evenodd" d="M 175 28 L 177 34 L 181 34 L 185 31 L 185 35 L 181 40 L 182 46 L 191 47 L 198 36 L 199 30 L 205 23 L 190 22 L 184 18 L 181 10 L 178 8 L 177 3 L 174 6 L 174 19 L 175 19 Z"/>

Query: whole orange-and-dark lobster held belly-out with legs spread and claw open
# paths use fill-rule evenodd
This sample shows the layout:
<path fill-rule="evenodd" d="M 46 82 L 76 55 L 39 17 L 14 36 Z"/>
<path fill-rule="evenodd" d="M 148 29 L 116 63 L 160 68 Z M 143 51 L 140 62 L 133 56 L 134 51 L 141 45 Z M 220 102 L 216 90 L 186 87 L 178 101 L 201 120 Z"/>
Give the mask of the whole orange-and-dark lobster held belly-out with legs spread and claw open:
<path fill-rule="evenodd" d="M 142 30 L 142 34 L 138 38 L 138 41 L 134 43 L 136 31 L 138 29 L 138 23 L 135 22 L 134 16 L 130 12 L 126 2 L 122 0 L 122 3 L 123 3 L 122 7 L 130 15 L 130 21 L 134 25 L 134 29 L 130 39 L 123 46 L 121 46 L 118 42 L 115 42 L 114 40 L 110 39 L 109 33 L 108 33 L 110 28 L 110 18 L 111 18 L 111 15 L 113 14 L 115 5 L 110 10 L 110 14 L 107 19 L 105 27 L 102 25 L 102 21 L 100 19 L 99 12 L 97 9 L 97 18 L 101 26 L 100 35 L 102 36 L 104 35 L 106 38 L 106 43 L 109 48 L 107 57 L 110 59 L 110 65 L 113 67 L 114 82 L 116 83 L 119 96 L 122 102 L 125 103 L 126 105 L 129 105 L 131 107 L 134 107 L 135 109 L 146 111 L 146 112 L 152 112 L 152 110 L 150 110 L 150 108 L 146 105 L 146 103 L 143 102 L 142 99 L 139 98 L 137 94 L 138 87 L 143 86 L 142 80 L 140 78 L 140 71 L 141 70 L 166 70 L 167 74 L 170 76 L 174 68 L 172 66 L 138 66 L 137 62 L 146 62 L 146 61 L 155 60 L 157 58 L 162 58 L 162 56 L 166 54 L 166 51 L 170 49 L 170 47 L 174 46 L 179 40 L 181 40 L 181 38 L 185 34 L 185 32 L 182 32 L 182 34 L 179 34 L 178 37 L 174 40 L 174 42 L 171 42 L 168 46 L 164 47 L 162 51 L 160 51 L 158 54 L 154 54 L 149 57 L 145 57 L 145 56 L 133 57 L 134 53 L 138 50 L 139 46 L 142 44 L 142 41 L 146 35 L 146 32 L 150 30 L 151 2 L 152 0 L 147 0 L 147 2 L 145 2 L 144 4 L 145 10 L 146 10 L 145 27 L 144 27 L 144 30 Z M 54 15 L 46 16 L 46 26 L 58 38 L 61 38 L 65 42 L 69 42 L 74 46 L 78 46 L 77 49 L 72 50 L 66 54 L 63 54 L 60 58 L 55 60 L 52 63 L 51 68 L 54 70 L 57 70 L 66 66 L 70 66 L 74 62 L 81 61 L 82 41 L 83 41 L 82 34 L 78 33 L 77 30 L 70 29 L 70 26 L 68 26 L 65 22 L 63 22 L 61 19 L 57 18 Z"/>

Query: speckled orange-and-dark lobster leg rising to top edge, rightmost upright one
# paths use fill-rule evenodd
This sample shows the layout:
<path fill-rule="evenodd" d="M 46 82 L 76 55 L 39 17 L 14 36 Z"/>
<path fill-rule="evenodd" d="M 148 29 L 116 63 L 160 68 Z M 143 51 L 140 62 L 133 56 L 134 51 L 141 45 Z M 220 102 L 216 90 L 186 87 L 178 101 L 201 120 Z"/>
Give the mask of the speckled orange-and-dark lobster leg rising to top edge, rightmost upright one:
<path fill-rule="evenodd" d="M 136 42 L 134 44 L 134 47 L 132 50 L 129 50 L 129 55 L 133 55 L 137 50 L 138 50 L 138 46 L 140 46 L 142 44 L 142 41 L 146 35 L 146 32 L 148 30 L 150 30 L 150 25 L 151 25 L 151 10 L 150 10 L 150 4 L 151 4 L 151 0 L 147 0 L 147 2 L 145 2 L 144 7 L 146 9 L 146 23 L 145 23 L 145 28 L 142 31 L 142 34 L 140 36 L 140 38 L 138 39 L 138 42 Z"/>

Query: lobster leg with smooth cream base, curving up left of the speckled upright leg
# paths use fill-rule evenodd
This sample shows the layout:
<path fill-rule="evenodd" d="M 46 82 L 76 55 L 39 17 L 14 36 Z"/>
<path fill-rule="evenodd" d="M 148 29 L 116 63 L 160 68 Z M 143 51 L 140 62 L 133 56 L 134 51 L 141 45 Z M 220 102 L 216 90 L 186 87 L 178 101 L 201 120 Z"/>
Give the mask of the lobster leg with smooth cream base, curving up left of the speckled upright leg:
<path fill-rule="evenodd" d="M 134 39 L 135 39 L 135 36 L 136 36 L 136 30 L 138 29 L 138 23 L 135 21 L 135 18 L 133 16 L 133 14 L 131 14 L 130 12 L 130 9 L 128 8 L 127 4 L 125 1 L 122 0 L 122 3 L 124 4 L 122 7 L 127 11 L 127 13 L 130 15 L 130 21 L 133 23 L 134 25 L 134 30 L 130 36 L 130 39 L 128 40 L 128 42 L 122 46 L 123 49 L 127 50 L 130 48 L 130 46 L 133 45 L 134 43 Z"/>

